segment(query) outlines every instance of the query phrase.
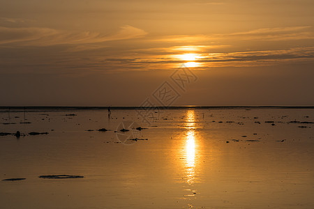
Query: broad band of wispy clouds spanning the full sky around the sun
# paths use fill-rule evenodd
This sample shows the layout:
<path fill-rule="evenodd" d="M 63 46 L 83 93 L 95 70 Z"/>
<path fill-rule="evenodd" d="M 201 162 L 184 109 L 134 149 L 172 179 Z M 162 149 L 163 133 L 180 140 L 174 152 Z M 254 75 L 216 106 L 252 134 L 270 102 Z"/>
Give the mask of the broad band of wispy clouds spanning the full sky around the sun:
<path fill-rule="evenodd" d="M 132 47 L 124 43 L 109 42 L 110 40 L 128 40 L 142 38 L 147 32 L 134 26 L 123 26 L 115 33 L 103 34 L 95 32 L 69 32 L 47 28 L 7 28 L 0 27 L 0 45 L 3 47 L 36 46 L 25 59 L 3 58 L 2 64 L 10 65 L 43 65 L 47 68 L 86 69 L 86 70 L 155 70 L 173 69 L 189 61 L 180 59 L 182 54 L 195 54 L 193 62 L 198 69 L 210 69 L 223 66 L 256 66 L 276 65 L 277 63 L 296 63 L 314 61 L 314 46 L 283 47 L 283 42 L 266 50 L 264 40 L 289 40 L 294 38 L 313 38 L 311 26 L 294 26 L 285 28 L 255 29 L 251 31 L 195 35 L 195 36 L 147 36 Z M 301 36 L 300 34 L 307 34 Z M 246 46 L 239 40 L 253 40 L 255 47 Z M 260 40 L 256 41 L 255 40 Z M 250 44 L 252 42 L 249 42 Z M 37 48 L 40 46 L 55 46 Z M 260 47 L 263 46 L 263 47 Z M 278 48 L 276 48 L 278 47 Z M 247 48 L 253 48 L 250 50 Z M 12 47 L 11 52 L 15 52 Z M 17 51 L 20 50 L 17 49 Z M 89 50 L 90 52 L 84 52 Z M 16 51 L 16 52 L 17 52 Z M 4 51 L 3 51 L 4 52 Z M 51 56 L 46 56 L 49 52 Z M 62 52 L 62 53 L 60 53 Z M 76 53 L 77 52 L 77 53 Z M 81 53 L 82 52 L 82 53 Z M 214 53 L 215 52 L 215 53 Z M 3 53 L 6 54 L 6 53 Z M 14 53 L 10 53 L 14 54 Z M 8 58 L 10 58 L 8 54 Z M 179 55 L 179 56 L 178 56 Z M 22 57 L 22 56 L 21 56 Z"/>

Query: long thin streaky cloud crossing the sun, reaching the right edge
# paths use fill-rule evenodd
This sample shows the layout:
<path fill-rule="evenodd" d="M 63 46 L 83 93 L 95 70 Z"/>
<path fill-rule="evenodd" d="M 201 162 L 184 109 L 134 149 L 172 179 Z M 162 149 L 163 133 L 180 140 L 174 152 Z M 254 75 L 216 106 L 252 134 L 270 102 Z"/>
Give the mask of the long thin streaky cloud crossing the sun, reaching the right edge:
<path fill-rule="evenodd" d="M 167 54 L 160 56 L 141 55 L 137 57 L 126 57 L 124 59 L 106 59 L 109 63 L 127 63 L 131 65 L 147 64 L 181 64 L 178 54 Z M 223 66 L 255 66 L 270 65 L 276 63 L 290 63 L 297 61 L 314 61 L 314 47 L 296 47 L 285 50 L 265 50 L 251 52 L 221 52 L 221 53 L 198 53 L 194 62 L 200 63 L 202 68 L 223 67 Z"/>

